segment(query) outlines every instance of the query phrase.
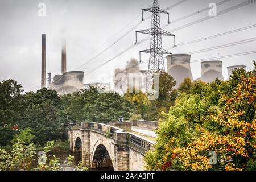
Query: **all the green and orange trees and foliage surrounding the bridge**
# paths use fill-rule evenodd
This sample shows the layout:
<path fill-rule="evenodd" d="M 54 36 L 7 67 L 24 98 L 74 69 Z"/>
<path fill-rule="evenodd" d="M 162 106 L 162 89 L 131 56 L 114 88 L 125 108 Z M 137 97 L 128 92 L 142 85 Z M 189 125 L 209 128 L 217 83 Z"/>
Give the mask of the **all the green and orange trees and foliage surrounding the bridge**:
<path fill-rule="evenodd" d="M 46 88 L 23 94 L 15 80 L 2 81 L 0 146 L 8 151 L 0 150 L 0 169 L 59 170 L 55 157 L 31 168 L 36 147 L 46 145 L 42 150 L 48 154 L 49 148 L 67 150 L 68 122 L 106 123 L 122 115 L 159 121 L 155 150 L 146 153 L 149 170 L 255 170 L 255 62 L 254 66 L 250 72 L 235 69 L 227 81 L 185 78 L 177 90 L 174 78 L 158 71 L 156 100 L 148 100 L 148 93 L 137 88 L 123 96 L 99 93 L 95 87 L 63 96 Z M 50 140 L 56 141 L 55 147 Z M 212 153 L 216 164 L 211 163 Z M 67 163 L 71 161 L 69 156 Z M 75 169 L 86 168 L 79 164 Z"/>

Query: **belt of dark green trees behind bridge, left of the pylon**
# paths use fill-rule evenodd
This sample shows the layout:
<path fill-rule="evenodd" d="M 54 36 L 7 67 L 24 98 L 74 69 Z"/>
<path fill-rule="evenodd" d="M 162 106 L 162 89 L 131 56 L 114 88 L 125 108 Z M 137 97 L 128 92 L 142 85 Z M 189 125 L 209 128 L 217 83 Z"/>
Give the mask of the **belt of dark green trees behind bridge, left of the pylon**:
<path fill-rule="evenodd" d="M 64 96 L 46 88 L 22 94 L 21 88 L 14 80 L 0 82 L 0 146 L 18 139 L 37 145 L 64 140 L 68 122 L 106 123 L 118 121 L 119 115 L 129 119 L 129 113 L 134 112 L 133 102 L 126 97 L 100 94 L 95 87 Z"/>

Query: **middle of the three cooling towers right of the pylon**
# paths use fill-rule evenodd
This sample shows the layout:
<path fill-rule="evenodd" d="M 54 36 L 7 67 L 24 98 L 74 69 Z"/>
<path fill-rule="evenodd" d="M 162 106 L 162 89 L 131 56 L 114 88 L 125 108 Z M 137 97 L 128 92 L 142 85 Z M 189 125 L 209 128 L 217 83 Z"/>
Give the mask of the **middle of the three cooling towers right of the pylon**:
<path fill-rule="evenodd" d="M 201 81 L 212 82 L 216 78 L 224 80 L 222 75 L 222 61 L 203 61 L 201 62 Z"/>

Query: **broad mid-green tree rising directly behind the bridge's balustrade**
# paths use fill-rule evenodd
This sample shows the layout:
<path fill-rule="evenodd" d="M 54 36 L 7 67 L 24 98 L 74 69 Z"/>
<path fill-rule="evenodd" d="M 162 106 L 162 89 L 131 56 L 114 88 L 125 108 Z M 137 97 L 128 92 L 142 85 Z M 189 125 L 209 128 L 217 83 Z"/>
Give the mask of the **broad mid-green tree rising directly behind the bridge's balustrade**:
<path fill-rule="evenodd" d="M 90 86 L 73 93 L 65 113 L 74 122 L 109 122 L 118 121 L 119 115 L 128 119 L 133 108 L 133 102 L 118 93 L 99 93 L 96 87 Z"/>

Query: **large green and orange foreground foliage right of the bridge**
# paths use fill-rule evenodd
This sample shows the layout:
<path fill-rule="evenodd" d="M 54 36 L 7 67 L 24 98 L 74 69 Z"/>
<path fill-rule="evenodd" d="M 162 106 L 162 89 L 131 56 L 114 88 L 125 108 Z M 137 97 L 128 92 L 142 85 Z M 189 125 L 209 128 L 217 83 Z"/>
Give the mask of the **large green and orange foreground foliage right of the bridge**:
<path fill-rule="evenodd" d="M 228 81 L 185 80 L 156 131 L 149 170 L 255 170 L 256 64 L 233 71 Z M 191 85 L 190 87 L 184 85 Z M 212 156 L 216 154 L 216 164 Z"/>

